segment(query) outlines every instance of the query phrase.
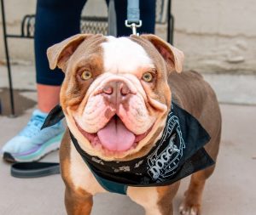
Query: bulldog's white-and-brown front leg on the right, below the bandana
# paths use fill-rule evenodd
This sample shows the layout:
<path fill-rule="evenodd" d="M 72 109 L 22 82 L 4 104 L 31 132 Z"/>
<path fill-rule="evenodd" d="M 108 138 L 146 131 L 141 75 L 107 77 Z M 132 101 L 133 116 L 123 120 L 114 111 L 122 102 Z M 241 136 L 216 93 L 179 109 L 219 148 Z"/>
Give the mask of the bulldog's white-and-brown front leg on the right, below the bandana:
<path fill-rule="evenodd" d="M 146 215 L 172 215 L 172 199 L 179 182 L 163 187 L 129 187 L 127 195 L 144 207 Z"/>

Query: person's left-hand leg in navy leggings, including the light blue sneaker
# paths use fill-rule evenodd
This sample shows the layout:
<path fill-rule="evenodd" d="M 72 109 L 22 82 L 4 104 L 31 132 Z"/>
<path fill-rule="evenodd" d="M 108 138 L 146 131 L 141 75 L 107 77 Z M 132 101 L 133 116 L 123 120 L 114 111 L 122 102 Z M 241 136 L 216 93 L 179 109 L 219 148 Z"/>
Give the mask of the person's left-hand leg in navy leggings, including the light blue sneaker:
<path fill-rule="evenodd" d="M 59 122 L 40 130 L 49 110 L 59 103 L 63 72 L 50 71 L 46 50 L 56 42 L 79 33 L 80 14 L 86 0 L 38 0 L 35 29 L 35 55 L 38 110 L 26 127 L 3 146 L 7 161 L 36 161 L 59 147 L 65 127 Z"/>

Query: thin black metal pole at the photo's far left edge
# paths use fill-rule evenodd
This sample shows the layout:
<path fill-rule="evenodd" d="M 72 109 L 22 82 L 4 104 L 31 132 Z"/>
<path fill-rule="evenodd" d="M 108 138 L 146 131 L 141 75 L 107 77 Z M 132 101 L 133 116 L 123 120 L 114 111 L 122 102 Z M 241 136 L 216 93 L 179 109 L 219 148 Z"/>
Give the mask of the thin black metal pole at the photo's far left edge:
<path fill-rule="evenodd" d="M 3 43 L 5 49 L 5 57 L 7 63 L 7 71 L 9 77 L 9 99 L 11 105 L 11 117 L 15 116 L 15 100 L 14 100 L 14 92 L 13 92 L 13 83 L 12 83 L 12 75 L 11 75 L 11 68 L 9 63 L 9 49 L 8 49 L 8 42 L 7 42 L 7 33 L 6 33 L 6 23 L 5 23 L 5 12 L 4 12 L 4 3 L 1 0 L 1 8 L 2 8 L 2 21 L 3 21 Z"/>

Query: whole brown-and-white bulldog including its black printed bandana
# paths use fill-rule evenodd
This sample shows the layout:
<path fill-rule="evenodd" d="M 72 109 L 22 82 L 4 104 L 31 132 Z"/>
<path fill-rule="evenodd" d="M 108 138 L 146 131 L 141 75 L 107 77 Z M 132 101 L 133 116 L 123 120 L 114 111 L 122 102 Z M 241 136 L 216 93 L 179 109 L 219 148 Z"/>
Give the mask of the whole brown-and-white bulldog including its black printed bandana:
<path fill-rule="evenodd" d="M 147 215 L 171 215 L 182 178 L 191 176 L 181 214 L 201 214 L 218 155 L 221 116 L 212 88 L 182 72 L 183 52 L 154 35 L 79 34 L 48 49 L 65 73 L 67 121 L 61 175 L 69 215 L 90 214 L 100 192 L 129 195 Z M 57 113 L 57 114 L 55 114 Z M 52 122 L 49 122 L 52 124 Z"/>

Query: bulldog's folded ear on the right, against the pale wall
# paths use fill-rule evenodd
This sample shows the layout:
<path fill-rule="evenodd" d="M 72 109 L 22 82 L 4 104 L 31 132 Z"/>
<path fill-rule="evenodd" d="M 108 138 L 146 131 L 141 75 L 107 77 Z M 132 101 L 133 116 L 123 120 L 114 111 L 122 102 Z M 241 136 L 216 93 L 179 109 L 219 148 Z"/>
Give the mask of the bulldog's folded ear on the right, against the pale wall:
<path fill-rule="evenodd" d="M 140 37 L 148 40 L 154 45 L 154 47 L 166 60 L 166 63 L 171 71 L 175 70 L 180 73 L 183 70 L 184 54 L 182 51 L 153 34 L 143 34 Z"/>

